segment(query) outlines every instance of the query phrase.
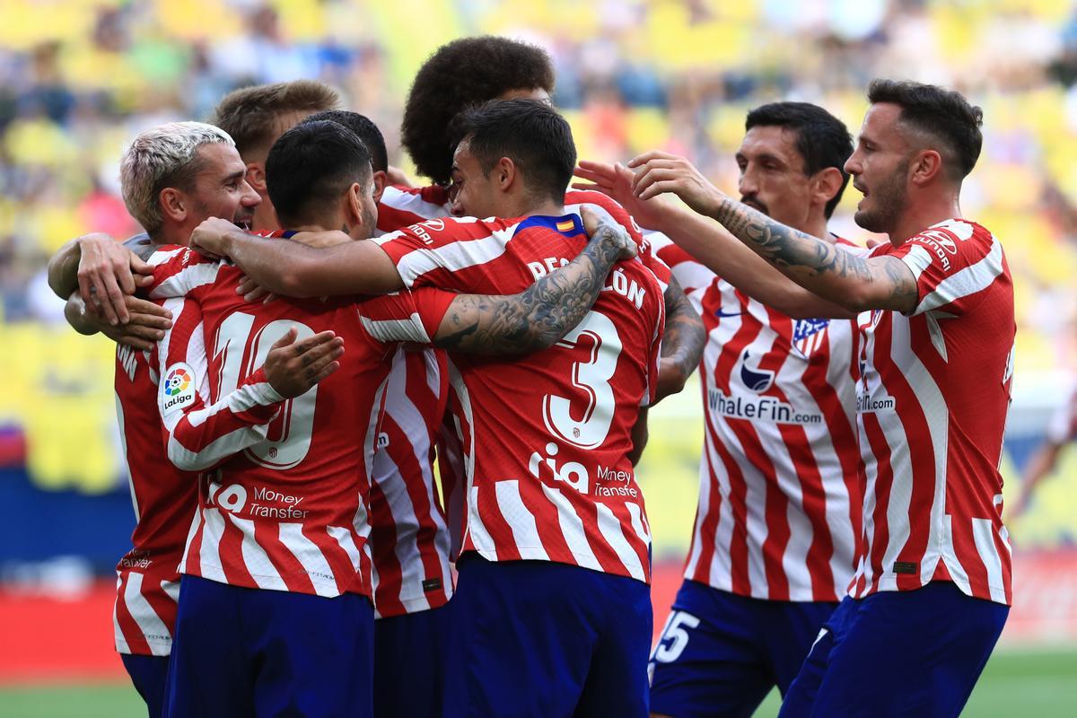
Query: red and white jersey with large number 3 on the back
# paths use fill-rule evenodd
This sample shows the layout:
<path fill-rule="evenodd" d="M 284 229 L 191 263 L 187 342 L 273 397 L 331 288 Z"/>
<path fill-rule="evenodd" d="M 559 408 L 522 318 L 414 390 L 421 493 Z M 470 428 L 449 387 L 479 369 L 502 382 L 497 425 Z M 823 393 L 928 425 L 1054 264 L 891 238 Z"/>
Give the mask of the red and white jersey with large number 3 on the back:
<path fill-rule="evenodd" d="M 409 286 L 514 294 L 568 264 L 586 235 L 569 214 L 433 220 L 375 241 Z M 654 397 L 663 288 L 639 261 L 619 263 L 557 346 L 514 362 L 451 355 L 464 551 L 649 580 L 651 534 L 627 454 L 639 407 Z"/>

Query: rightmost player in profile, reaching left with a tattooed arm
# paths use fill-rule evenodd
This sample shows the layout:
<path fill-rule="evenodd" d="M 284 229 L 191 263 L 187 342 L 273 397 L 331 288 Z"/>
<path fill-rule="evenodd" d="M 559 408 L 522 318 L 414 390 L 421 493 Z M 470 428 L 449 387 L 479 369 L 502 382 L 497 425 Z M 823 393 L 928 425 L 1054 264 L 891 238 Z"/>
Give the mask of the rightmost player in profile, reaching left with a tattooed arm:
<path fill-rule="evenodd" d="M 845 170 L 864 194 L 857 223 L 890 242 L 866 258 L 726 197 L 683 158 L 653 152 L 629 165 L 641 199 L 679 195 L 805 287 L 806 310 L 858 329 L 858 564 L 782 715 L 956 716 L 1012 600 L 997 465 L 1013 286 L 1002 244 L 959 206 L 980 154 L 980 109 L 889 80 L 873 81 L 868 100 Z"/>

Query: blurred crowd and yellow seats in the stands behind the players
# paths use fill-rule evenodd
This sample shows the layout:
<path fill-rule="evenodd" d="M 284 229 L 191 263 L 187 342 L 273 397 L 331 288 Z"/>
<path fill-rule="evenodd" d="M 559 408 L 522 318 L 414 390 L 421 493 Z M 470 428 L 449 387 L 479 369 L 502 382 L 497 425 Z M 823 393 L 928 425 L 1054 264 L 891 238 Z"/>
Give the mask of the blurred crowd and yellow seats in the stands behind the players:
<path fill-rule="evenodd" d="M 1019 397 L 1031 391 L 1029 400 L 1049 404 L 1077 369 L 1077 11 L 1068 1 L 4 0 L 0 337 L 19 350 L 0 357 L 15 385 L 0 399 L 0 425 L 33 433 L 45 422 L 37 431 L 58 440 L 74 430 L 40 416 L 43 402 L 81 406 L 108 392 L 108 356 L 57 326 L 62 304 L 43 268 L 84 231 L 138 231 L 117 186 L 124 143 L 138 131 L 205 118 L 238 86 L 320 79 L 378 123 L 391 163 L 408 170 L 397 138 L 410 78 L 438 45 L 479 33 L 549 51 L 554 99 L 582 156 L 665 147 L 730 192 L 753 105 L 816 102 L 855 135 L 875 76 L 962 90 L 985 117 L 963 209 L 1003 239 L 1015 274 Z M 834 228 L 864 240 L 851 219 L 857 198 L 850 187 Z M 86 421 L 103 425 L 110 411 L 111 403 Z"/>

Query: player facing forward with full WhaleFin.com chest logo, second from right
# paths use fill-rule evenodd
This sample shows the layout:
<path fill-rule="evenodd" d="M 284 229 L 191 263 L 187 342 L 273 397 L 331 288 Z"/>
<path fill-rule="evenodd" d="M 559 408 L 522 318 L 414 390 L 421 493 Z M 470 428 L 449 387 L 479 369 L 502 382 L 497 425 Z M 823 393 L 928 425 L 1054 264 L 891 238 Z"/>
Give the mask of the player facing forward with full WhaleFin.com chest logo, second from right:
<path fill-rule="evenodd" d="M 752 110 L 745 129 L 741 201 L 862 253 L 827 229 L 853 151 L 841 121 L 775 102 Z M 575 186 L 598 186 L 644 226 L 653 221 L 629 170 L 581 165 L 576 174 L 597 185 Z M 657 240 L 658 256 L 708 329 L 707 431 L 685 580 L 652 654 L 651 710 L 751 715 L 775 685 L 785 694 L 855 569 L 853 326 L 757 301 L 759 262 L 713 251 L 691 224 L 667 230 L 681 245 Z"/>

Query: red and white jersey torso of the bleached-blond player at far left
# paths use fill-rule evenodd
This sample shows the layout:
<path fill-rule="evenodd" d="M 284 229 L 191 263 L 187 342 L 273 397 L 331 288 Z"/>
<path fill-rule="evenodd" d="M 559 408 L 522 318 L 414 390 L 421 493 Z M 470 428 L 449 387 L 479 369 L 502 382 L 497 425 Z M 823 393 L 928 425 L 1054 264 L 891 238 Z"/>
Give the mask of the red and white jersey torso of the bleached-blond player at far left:
<path fill-rule="evenodd" d="M 197 506 L 197 476 L 172 466 L 160 441 L 156 357 L 116 347 L 116 418 L 137 523 L 132 548 L 116 565 L 113 628 L 116 650 L 141 656 L 171 652 L 179 565 Z"/>

